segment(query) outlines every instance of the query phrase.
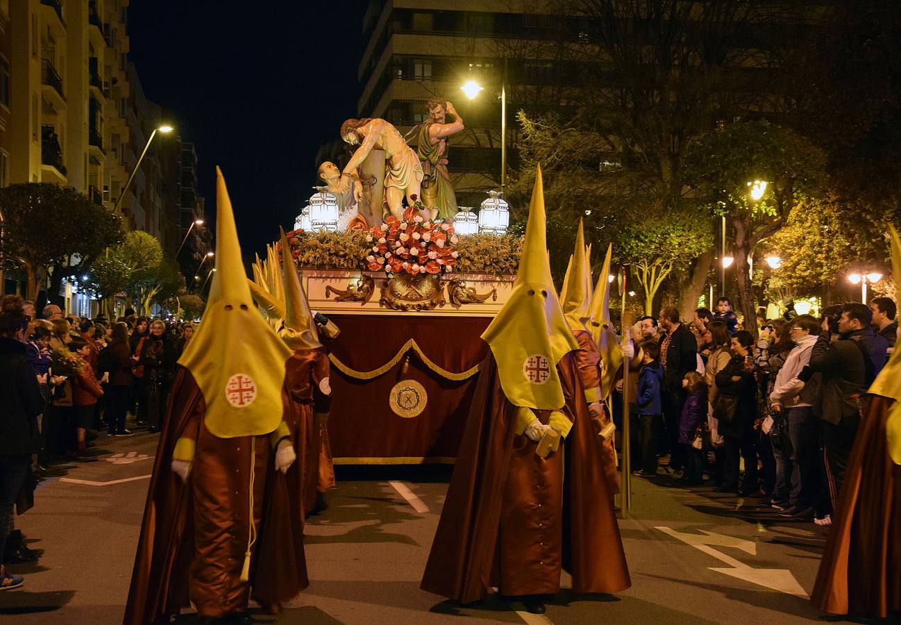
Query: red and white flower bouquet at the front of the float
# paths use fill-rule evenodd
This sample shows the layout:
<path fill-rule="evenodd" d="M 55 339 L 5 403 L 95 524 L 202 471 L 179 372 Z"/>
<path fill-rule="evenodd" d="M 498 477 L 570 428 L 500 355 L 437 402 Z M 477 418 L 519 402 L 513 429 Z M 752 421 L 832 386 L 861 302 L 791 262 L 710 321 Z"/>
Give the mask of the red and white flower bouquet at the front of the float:
<path fill-rule="evenodd" d="M 453 271 L 460 253 L 452 224 L 423 216 L 423 204 L 414 197 L 403 220 L 389 216 L 369 230 L 366 241 L 372 253 L 366 257 L 369 271 L 388 273 L 445 273 Z"/>

